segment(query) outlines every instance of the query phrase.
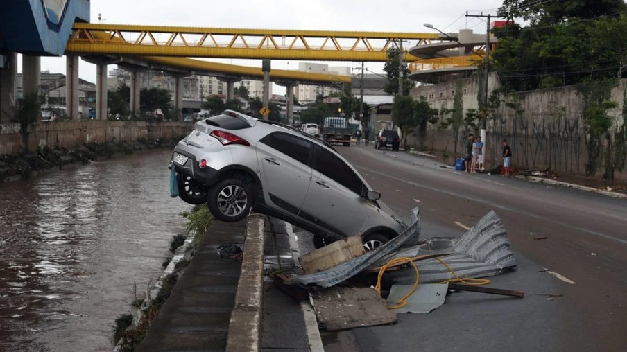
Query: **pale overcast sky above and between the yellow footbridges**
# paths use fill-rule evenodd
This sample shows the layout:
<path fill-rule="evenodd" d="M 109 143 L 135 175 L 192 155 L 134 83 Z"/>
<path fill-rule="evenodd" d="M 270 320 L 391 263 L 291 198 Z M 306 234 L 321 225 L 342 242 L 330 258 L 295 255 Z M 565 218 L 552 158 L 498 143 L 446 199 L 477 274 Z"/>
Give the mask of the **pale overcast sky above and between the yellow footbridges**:
<path fill-rule="evenodd" d="M 91 3 L 92 23 L 98 23 L 98 13 L 101 13 L 103 23 L 108 24 L 433 32 L 422 26 L 427 22 L 448 32 L 472 28 L 475 33 L 486 33 L 485 22 L 466 18 L 465 12 L 494 13 L 502 0 L 92 0 Z M 207 60 L 261 66 L 261 60 Z M 18 70 L 22 71 L 21 58 L 19 61 Z M 328 64 L 356 67 L 351 62 Z M 276 60 L 272 67 L 298 69 L 298 62 Z M 367 63 L 366 67 L 383 72 L 381 63 Z M 113 68 L 112 65 L 109 69 Z M 42 58 L 42 70 L 65 73 L 65 58 Z M 79 76 L 95 82 L 95 65 L 81 60 Z M 284 94 L 284 89 L 275 85 L 273 93 Z"/>

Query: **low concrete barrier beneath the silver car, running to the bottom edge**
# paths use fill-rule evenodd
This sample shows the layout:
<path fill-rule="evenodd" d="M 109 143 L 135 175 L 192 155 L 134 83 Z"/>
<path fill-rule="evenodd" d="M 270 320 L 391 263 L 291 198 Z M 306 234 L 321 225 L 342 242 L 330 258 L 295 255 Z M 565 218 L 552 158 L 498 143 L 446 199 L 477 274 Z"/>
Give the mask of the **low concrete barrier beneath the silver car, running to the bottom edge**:
<path fill-rule="evenodd" d="M 235 305 L 229 322 L 227 352 L 261 350 L 261 317 L 264 297 L 264 228 L 263 215 L 248 216 L 241 274 L 237 283 Z"/>

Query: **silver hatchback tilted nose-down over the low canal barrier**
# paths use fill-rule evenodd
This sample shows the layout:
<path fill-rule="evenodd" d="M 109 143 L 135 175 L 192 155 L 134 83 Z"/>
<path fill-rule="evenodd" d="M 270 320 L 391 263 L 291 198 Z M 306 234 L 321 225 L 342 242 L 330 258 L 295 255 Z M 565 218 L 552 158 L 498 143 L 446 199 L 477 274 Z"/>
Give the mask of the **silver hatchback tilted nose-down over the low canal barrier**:
<path fill-rule="evenodd" d="M 223 222 L 254 207 L 311 231 L 316 248 L 359 234 L 373 249 L 406 228 L 331 146 L 280 123 L 230 110 L 198 121 L 170 165 L 185 202 Z"/>

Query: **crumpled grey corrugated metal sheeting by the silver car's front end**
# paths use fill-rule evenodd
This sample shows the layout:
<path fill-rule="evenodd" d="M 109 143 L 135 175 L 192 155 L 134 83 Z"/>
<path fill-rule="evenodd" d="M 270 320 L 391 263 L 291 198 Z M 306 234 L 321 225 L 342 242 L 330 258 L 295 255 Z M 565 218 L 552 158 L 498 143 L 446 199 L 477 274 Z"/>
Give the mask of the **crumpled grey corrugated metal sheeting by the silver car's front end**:
<path fill-rule="evenodd" d="M 467 231 L 459 240 L 453 238 L 431 238 L 421 245 L 404 246 L 415 243 L 420 238 L 420 218 L 418 208 L 413 211 L 413 223 L 400 236 L 379 247 L 375 251 L 337 265 L 324 272 L 298 276 L 289 283 L 304 288 L 328 288 L 350 279 L 352 276 L 380 267 L 394 258 L 413 257 L 422 254 L 445 254 L 442 259 L 460 277 L 485 277 L 501 274 L 517 265 L 510 250 L 510 242 L 499 216 L 490 211 Z M 421 283 L 435 283 L 452 279 L 454 275 L 436 259 L 416 262 L 420 270 Z M 395 283 L 413 283 L 413 268 L 388 272 Z"/>

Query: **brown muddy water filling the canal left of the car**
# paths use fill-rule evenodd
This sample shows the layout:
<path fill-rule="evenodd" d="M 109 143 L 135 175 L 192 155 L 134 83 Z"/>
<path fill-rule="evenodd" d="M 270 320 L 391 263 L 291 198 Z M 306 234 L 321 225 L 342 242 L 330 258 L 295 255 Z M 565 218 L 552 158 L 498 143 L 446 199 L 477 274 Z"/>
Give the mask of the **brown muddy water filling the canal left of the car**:
<path fill-rule="evenodd" d="M 0 184 L 0 351 L 111 351 L 184 231 L 168 150 Z"/>

